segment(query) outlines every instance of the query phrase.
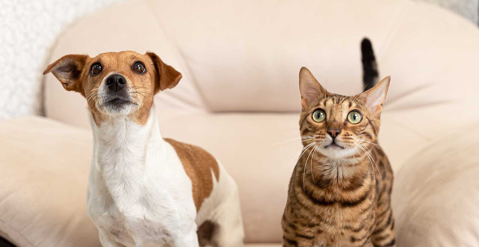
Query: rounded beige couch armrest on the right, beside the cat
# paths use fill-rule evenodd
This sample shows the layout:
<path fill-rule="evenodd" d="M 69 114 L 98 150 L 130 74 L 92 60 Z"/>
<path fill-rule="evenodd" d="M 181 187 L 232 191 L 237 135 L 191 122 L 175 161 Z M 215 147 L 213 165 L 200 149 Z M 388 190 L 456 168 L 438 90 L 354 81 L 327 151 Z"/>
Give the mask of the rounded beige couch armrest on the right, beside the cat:
<path fill-rule="evenodd" d="M 479 123 L 406 161 L 392 193 L 398 246 L 479 246 Z"/>

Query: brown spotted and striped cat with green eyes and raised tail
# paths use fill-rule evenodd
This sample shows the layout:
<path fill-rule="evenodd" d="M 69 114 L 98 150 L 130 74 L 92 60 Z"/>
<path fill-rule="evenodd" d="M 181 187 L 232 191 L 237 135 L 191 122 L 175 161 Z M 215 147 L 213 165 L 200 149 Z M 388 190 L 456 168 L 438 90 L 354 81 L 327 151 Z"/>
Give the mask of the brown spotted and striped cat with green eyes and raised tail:
<path fill-rule="evenodd" d="M 282 218 L 283 247 L 395 247 L 393 172 L 377 144 L 390 76 L 376 85 L 371 43 L 362 42 L 366 90 L 328 92 L 301 68 L 303 150 Z M 367 74 L 367 75 L 366 75 Z"/>

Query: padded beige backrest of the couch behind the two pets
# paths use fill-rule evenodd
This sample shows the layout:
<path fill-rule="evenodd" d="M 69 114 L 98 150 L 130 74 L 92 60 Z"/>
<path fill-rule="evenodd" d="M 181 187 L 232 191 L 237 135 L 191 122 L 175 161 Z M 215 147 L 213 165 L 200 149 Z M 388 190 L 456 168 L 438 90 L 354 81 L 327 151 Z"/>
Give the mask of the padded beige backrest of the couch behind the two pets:
<path fill-rule="evenodd" d="M 72 53 L 151 50 L 183 74 L 179 86 L 160 94 L 159 110 L 291 112 L 300 109 L 301 66 L 332 92 L 361 91 L 365 36 L 380 76 L 392 75 L 389 112 L 463 106 L 476 96 L 477 28 L 445 10 L 402 0 L 135 1 L 78 21 L 59 38 L 49 62 Z M 48 117 L 87 126 L 84 108 L 80 95 L 48 75 Z M 460 118 L 463 109 L 447 114 Z"/>

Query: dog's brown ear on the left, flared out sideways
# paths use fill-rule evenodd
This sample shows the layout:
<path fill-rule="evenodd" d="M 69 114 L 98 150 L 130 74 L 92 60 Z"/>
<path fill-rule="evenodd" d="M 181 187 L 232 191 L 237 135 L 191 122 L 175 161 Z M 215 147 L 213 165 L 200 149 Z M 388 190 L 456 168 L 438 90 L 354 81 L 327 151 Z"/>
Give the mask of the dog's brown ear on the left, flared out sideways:
<path fill-rule="evenodd" d="M 81 92 L 80 75 L 83 71 L 88 55 L 66 55 L 48 65 L 44 75 L 52 72 L 67 91 Z"/>

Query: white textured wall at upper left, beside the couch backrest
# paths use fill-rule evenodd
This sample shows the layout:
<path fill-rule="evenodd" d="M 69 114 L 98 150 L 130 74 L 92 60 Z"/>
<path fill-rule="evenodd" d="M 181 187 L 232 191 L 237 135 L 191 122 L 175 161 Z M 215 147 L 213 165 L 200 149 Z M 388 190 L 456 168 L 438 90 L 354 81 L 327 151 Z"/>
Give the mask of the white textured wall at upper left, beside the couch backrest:
<path fill-rule="evenodd" d="M 42 72 L 76 18 L 123 0 L 0 0 L 0 119 L 42 115 Z"/>

